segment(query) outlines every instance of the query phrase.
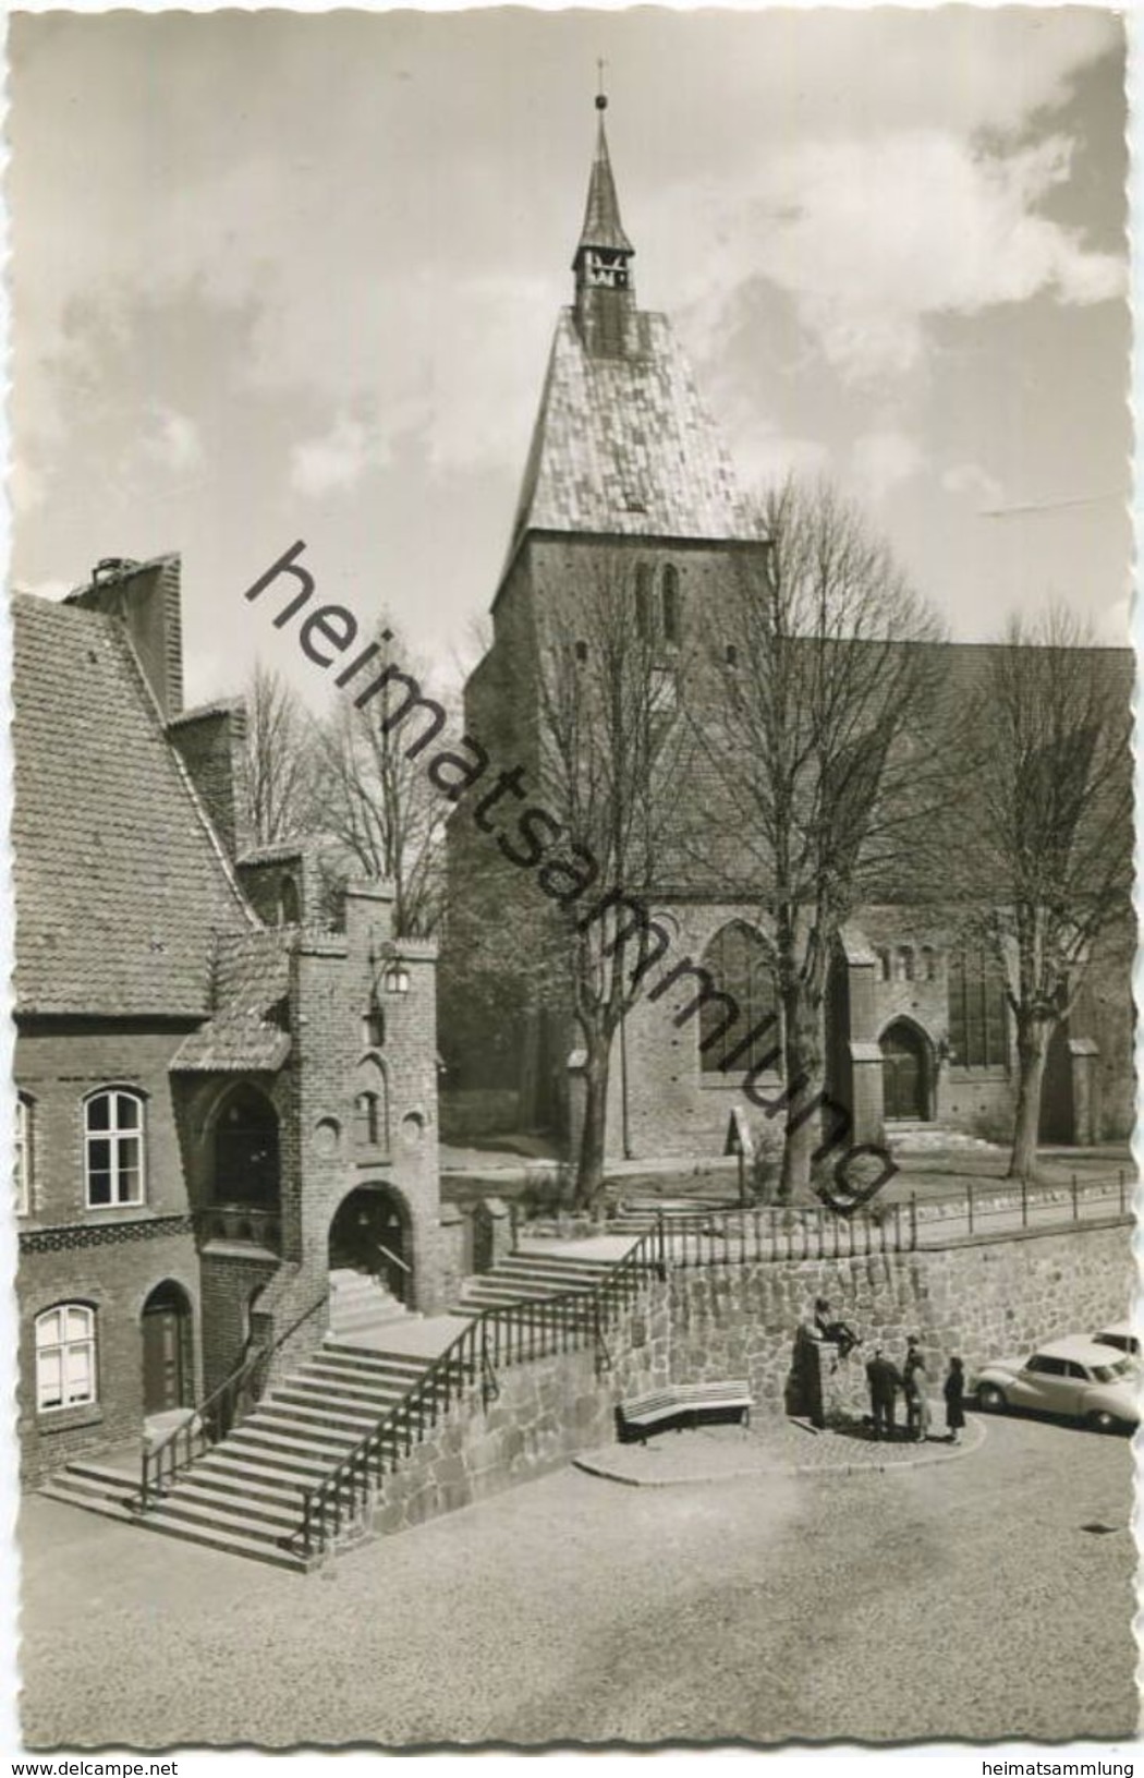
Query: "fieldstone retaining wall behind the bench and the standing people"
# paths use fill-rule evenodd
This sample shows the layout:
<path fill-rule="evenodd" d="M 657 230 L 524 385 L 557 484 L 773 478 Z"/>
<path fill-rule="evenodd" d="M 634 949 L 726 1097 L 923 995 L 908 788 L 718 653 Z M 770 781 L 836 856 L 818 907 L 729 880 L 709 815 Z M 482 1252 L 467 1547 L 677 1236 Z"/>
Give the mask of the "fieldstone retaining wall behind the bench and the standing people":
<path fill-rule="evenodd" d="M 616 1403 L 666 1382 L 746 1376 L 755 1419 L 782 1415 L 794 1328 L 815 1296 L 863 1339 L 824 1378 L 828 1405 L 863 1412 L 876 1344 L 901 1360 L 908 1335 L 920 1335 L 936 1394 L 950 1353 L 972 1371 L 1123 1319 L 1133 1278 L 1124 1221 L 917 1253 L 677 1269 L 608 1332 L 611 1369 L 597 1374 L 586 1350 L 503 1371 L 489 1406 L 474 1390 L 385 1478 L 368 1518 L 373 1531 L 403 1531 L 611 1444 Z"/>

